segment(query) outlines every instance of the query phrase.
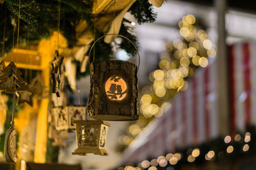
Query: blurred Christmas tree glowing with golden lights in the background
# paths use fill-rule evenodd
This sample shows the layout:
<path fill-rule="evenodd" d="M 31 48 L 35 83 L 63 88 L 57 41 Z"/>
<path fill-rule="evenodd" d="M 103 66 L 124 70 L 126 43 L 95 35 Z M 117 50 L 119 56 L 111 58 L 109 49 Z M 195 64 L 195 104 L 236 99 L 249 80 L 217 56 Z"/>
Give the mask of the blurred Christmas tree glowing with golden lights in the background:
<path fill-rule="evenodd" d="M 193 76 L 198 67 L 206 67 L 208 59 L 216 56 L 207 33 L 200 29 L 193 15 L 186 15 L 179 21 L 182 39 L 166 43 L 161 53 L 159 69 L 149 74 L 150 86 L 141 90 L 140 118 L 120 136 L 120 145 L 128 146 L 154 117 L 161 117 L 171 107 L 170 99 L 177 92 L 188 89 L 187 79 Z"/>

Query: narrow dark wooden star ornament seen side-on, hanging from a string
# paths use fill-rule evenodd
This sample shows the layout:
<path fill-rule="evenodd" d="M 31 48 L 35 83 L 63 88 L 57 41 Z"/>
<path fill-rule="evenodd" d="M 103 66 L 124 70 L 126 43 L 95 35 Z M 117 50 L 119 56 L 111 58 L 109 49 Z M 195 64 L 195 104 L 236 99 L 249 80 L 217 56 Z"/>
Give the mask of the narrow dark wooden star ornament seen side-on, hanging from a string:
<path fill-rule="evenodd" d="M 60 97 L 60 92 L 62 87 L 61 82 L 61 70 L 62 70 L 62 62 L 64 57 L 59 56 L 58 50 L 55 51 L 54 59 L 51 62 L 52 65 L 52 93 L 55 93 L 57 97 Z"/>

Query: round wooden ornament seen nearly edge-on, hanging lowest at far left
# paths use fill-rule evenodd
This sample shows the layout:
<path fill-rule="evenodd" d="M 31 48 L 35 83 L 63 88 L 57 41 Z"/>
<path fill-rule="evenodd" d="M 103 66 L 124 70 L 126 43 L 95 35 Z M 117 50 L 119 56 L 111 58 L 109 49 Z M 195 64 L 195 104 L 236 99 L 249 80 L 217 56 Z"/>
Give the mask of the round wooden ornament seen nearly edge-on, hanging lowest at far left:
<path fill-rule="evenodd" d="M 14 122 L 15 113 L 15 93 L 13 94 L 13 108 L 12 108 L 12 122 L 11 127 L 6 131 L 5 142 L 4 142 L 4 157 L 6 162 L 17 162 L 17 152 L 16 152 L 16 134 Z"/>

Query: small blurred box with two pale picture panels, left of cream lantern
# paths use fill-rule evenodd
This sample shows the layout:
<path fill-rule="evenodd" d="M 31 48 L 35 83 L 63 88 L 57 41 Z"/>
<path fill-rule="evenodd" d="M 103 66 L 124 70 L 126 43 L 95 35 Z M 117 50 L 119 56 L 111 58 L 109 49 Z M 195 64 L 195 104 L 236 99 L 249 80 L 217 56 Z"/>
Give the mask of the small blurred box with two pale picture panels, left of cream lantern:
<path fill-rule="evenodd" d="M 66 106 L 65 108 L 52 108 L 56 130 L 75 130 L 74 120 L 85 119 L 86 106 Z"/>

